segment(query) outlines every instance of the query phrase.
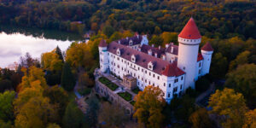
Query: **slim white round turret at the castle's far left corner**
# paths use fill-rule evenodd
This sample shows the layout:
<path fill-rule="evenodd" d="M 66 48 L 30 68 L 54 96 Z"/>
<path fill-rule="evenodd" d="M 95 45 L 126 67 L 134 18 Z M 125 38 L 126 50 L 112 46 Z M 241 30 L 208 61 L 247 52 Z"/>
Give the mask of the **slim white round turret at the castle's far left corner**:
<path fill-rule="evenodd" d="M 100 54 L 100 67 L 102 73 L 108 71 L 109 62 L 108 62 L 108 44 L 106 40 L 102 39 L 99 44 L 99 54 Z"/>

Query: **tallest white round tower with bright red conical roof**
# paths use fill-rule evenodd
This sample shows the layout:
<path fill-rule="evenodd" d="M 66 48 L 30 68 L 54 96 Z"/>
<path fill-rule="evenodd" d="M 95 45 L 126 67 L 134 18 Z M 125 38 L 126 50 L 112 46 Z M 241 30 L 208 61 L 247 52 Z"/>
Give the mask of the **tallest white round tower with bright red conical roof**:
<path fill-rule="evenodd" d="M 189 86 L 195 88 L 195 72 L 201 34 L 195 25 L 195 20 L 190 18 L 182 32 L 178 34 L 177 67 L 185 74 L 184 90 Z"/>

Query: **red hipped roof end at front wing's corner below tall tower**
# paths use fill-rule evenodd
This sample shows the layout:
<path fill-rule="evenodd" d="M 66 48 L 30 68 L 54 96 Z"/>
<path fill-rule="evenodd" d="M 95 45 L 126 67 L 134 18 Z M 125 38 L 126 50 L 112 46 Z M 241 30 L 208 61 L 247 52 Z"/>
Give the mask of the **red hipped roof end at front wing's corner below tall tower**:
<path fill-rule="evenodd" d="M 162 72 L 162 74 L 167 77 L 173 77 L 173 76 L 177 77 L 184 74 L 184 72 L 181 69 L 177 68 L 175 64 L 168 64 L 165 70 Z"/>

